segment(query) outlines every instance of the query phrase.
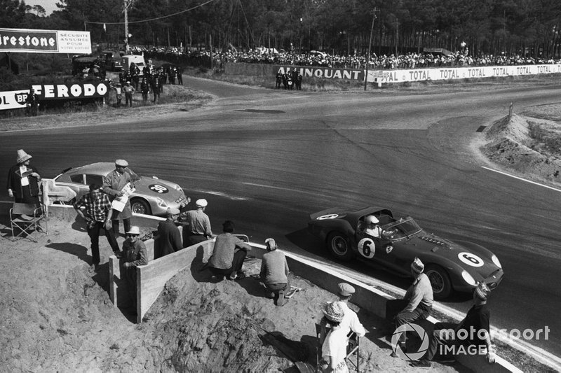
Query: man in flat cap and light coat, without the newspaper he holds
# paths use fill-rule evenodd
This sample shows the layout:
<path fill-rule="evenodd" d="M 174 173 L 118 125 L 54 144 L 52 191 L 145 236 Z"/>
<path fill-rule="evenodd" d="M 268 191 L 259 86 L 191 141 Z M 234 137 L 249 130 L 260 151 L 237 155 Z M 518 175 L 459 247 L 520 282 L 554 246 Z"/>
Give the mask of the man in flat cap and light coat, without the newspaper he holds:
<path fill-rule="evenodd" d="M 133 178 L 133 175 L 130 174 L 130 171 L 127 169 L 128 162 L 126 160 L 116 160 L 115 161 L 115 169 L 111 171 L 110 174 L 103 177 L 103 186 L 102 190 L 107 193 L 108 195 L 112 196 L 112 199 L 116 197 L 123 197 L 123 188 L 127 183 L 133 183 L 137 181 L 136 178 Z M 133 211 L 130 208 L 130 199 L 127 199 L 126 205 L 123 208 L 123 211 L 117 211 L 114 209 L 113 211 L 113 232 L 115 237 L 119 237 L 119 220 L 123 220 L 123 228 L 124 232 L 128 232 L 130 230 L 130 217 L 133 216 Z"/>

